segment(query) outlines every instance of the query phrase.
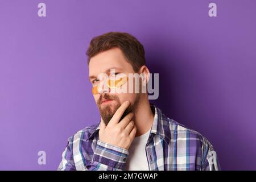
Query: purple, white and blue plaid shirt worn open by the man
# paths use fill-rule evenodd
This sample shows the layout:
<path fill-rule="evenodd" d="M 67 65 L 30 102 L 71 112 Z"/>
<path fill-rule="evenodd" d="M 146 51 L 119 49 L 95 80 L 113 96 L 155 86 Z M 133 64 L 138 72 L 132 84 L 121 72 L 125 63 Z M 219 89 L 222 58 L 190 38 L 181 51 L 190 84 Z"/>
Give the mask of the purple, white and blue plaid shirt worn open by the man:
<path fill-rule="evenodd" d="M 220 170 L 212 144 L 197 131 L 166 117 L 155 105 L 145 146 L 148 170 Z M 129 150 L 98 139 L 100 122 L 68 138 L 57 170 L 124 170 Z"/>

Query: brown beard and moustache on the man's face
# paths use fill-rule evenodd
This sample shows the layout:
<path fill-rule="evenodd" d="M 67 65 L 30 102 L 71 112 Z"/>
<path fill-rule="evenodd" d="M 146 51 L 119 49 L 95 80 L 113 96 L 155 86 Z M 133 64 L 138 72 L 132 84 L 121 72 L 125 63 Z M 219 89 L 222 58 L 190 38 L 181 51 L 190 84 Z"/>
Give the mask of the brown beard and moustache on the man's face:
<path fill-rule="evenodd" d="M 106 106 L 101 105 L 101 101 L 102 99 L 105 98 L 105 100 L 114 100 L 115 102 L 117 102 L 117 104 L 109 104 Z M 120 118 L 119 122 L 127 115 L 129 114 L 131 111 L 134 111 L 135 107 L 137 106 L 139 101 L 139 94 L 137 94 L 136 98 L 135 98 L 135 102 L 134 104 L 130 104 L 127 109 L 124 111 L 122 117 Z M 121 106 L 121 102 L 119 100 L 119 98 L 115 95 L 111 95 L 108 93 L 103 93 L 101 94 L 100 98 L 97 101 L 97 106 L 98 109 L 100 110 L 100 114 L 101 114 L 101 118 L 104 121 L 105 125 L 107 126 L 109 121 L 112 119 L 113 115 L 115 114 L 115 112 L 117 111 L 117 109 Z"/>

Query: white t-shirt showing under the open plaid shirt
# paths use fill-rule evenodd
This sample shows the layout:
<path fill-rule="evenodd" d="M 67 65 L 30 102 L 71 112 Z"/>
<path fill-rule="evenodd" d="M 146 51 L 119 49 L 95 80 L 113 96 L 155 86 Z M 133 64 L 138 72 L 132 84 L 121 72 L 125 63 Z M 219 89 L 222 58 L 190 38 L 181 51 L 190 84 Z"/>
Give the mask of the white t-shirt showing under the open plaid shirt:
<path fill-rule="evenodd" d="M 125 170 L 126 171 L 148 171 L 146 144 L 150 130 L 147 133 L 134 137 L 129 148 L 129 156 L 127 157 Z"/>

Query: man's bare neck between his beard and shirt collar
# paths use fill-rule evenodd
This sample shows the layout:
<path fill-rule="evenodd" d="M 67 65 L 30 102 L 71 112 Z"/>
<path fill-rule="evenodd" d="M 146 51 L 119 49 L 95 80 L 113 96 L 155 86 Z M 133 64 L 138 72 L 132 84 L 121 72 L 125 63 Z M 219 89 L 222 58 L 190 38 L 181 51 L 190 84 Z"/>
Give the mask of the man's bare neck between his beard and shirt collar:
<path fill-rule="evenodd" d="M 151 129 L 154 121 L 154 113 L 150 108 L 147 94 L 143 94 L 134 110 L 133 121 L 137 127 L 135 137 L 139 137 Z"/>

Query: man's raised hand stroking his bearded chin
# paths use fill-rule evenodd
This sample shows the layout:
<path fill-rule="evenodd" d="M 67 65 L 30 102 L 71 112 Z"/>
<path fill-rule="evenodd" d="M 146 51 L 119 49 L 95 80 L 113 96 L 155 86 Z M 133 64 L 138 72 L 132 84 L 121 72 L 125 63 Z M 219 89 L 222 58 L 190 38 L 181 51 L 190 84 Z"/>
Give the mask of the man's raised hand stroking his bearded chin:
<path fill-rule="evenodd" d="M 131 142 L 135 137 L 137 127 L 134 122 L 131 121 L 133 113 L 127 114 L 120 122 L 124 111 L 130 105 L 129 101 L 123 102 L 123 104 L 117 109 L 112 119 L 110 119 L 106 126 L 103 121 L 100 124 L 99 139 L 102 142 L 112 144 L 114 146 L 129 149 Z"/>

